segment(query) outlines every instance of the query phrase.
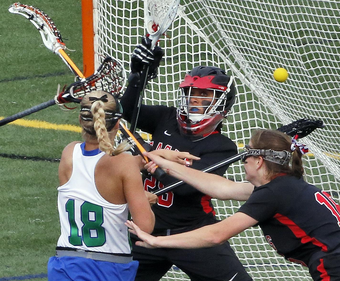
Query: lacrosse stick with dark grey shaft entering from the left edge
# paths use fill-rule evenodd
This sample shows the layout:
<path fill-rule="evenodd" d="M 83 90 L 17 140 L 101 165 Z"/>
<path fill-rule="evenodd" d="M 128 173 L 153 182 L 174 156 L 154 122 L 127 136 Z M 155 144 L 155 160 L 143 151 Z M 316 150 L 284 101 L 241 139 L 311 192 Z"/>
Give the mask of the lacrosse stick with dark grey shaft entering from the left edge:
<path fill-rule="evenodd" d="M 0 126 L 54 104 L 65 106 L 65 103 L 80 103 L 81 97 L 95 90 L 103 90 L 112 93 L 114 96 L 119 96 L 125 87 L 125 82 L 126 73 L 124 67 L 119 61 L 107 57 L 90 77 L 72 83 L 64 91 L 58 93 L 54 99 L 0 120 Z"/>

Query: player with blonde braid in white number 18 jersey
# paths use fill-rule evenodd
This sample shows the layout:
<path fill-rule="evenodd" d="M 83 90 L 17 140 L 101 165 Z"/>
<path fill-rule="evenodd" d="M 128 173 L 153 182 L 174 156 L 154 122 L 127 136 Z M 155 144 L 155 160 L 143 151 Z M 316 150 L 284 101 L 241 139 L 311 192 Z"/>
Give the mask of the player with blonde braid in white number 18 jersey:
<path fill-rule="evenodd" d="M 138 262 L 132 260 L 124 222 L 130 212 L 151 233 L 155 218 L 135 157 L 122 153 L 130 146 L 113 145 L 121 114 L 118 100 L 104 91 L 81 101 L 84 142 L 68 144 L 59 166 L 61 235 L 48 262 L 50 281 L 135 278 Z"/>

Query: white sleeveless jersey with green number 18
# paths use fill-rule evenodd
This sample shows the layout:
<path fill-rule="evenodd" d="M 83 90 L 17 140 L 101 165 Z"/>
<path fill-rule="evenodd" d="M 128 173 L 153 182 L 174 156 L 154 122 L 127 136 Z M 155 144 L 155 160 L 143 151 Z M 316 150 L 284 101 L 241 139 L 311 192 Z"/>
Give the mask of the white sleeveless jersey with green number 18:
<path fill-rule="evenodd" d="M 130 254 L 127 204 L 106 201 L 95 184 L 95 167 L 105 154 L 99 149 L 85 151 L 85 143 L 73 149 L 69 181 L 58 187 L 61 235 L 57 246 L 83 250 Z"/>

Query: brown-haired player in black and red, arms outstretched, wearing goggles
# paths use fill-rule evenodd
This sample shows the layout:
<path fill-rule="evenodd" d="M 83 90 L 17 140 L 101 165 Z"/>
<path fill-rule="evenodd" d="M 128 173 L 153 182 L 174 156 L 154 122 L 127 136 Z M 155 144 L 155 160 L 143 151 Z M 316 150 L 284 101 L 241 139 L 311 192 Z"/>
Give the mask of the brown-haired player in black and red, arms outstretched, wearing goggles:
<path fill-rule="evenodd" d="M 256 130 L 243 155 L 245 179 L 236 183 L 166 160 L 166 153 L 146 153 L 155 164 L 211 196 L 247 200 L 238 212 L 223 221 L 187 233 L 153 237 L 128 221 L 131 232 L 155 248 L 201 248 L 220 245 L 227 239 L 259 225 L 268 243 L 287 260 L 309 269 L 315 281 L 340 280 L 340 207 L 327 192 L 303 179 L 302 155 L 308 147 L 274 130 Z M 160 157 L 160 156 L 163 157 Z M 291 165 L 290 165 L 291 163 Z M 255 188 L 254 188 L 255 186 Z"/>

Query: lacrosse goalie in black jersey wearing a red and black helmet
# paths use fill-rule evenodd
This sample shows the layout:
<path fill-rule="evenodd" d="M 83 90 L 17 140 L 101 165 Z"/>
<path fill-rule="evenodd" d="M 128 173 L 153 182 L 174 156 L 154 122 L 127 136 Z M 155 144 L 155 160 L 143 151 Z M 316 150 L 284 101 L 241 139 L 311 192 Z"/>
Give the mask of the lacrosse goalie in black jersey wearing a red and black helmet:
<path fill-rule="evenodd" d="M 149 65 L 148 79 L 156 77 L 163 50 L 150 49 L 151 41 L 142 38 L 131 59 L 132 73 L 123 97 L 124 119 L 131 122 L 141 70 Z M 189 152 L 201 158 L 192 165 L 204 169 L 227 157 L 237 154 L 237 147 L 221 134 L 222 120 L 235 102 L 233 78 L 223 69 L 214 66 L 197 66 L 189 71 L 178 91 L 179 108 L 141 105 L 136 127 L 152 134 L 155 150 L 169 149 Z M 224 169 L 216 173 L 223 176 Z M 153 192 L 177 180 L 167 176 L 162 183 L 152 175 L 143 176 L 144 188 Z M 155 214 L 153 235 L 164 236 L 182 233 L 218 222 L 211 197 L 184 185 L 163 196 L 152 206 Z M 204 249 L 145 249 L 135 245 L 132 237 L 132 254 L 139 261 L 136 281 L 157 281 L 175 265 L 192 281 L 248 281 L 246 273 L 234 251 L 226 241 L 222 245 Z"/>

